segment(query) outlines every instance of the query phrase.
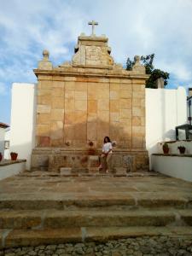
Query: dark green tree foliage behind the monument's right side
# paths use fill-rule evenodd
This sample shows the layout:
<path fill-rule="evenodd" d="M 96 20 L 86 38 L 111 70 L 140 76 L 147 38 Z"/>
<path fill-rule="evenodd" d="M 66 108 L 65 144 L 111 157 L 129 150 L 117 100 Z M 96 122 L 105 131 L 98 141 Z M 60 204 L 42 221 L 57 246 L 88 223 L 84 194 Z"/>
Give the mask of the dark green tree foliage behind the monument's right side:
<path fill-rule="evenodd" d="M 169 79 L 169 73 L 166 73 L 160 69 L 155 69 L 153 62 L 154 62 L 154 54 L 152 55 L 146 55 L 141 57 L 141 61 L 143 62 L 143 65 L 146 69 L 146 73 L 150 74 L 150 77 L 146 81 L 146 88 L 156 88 L 155 87 L 155 81 L 157 79 L 163 78 L 164 84 L 168 84 Z M 131 61 L 130 58 L 127 58 L 126 61 L 126 70 L 131 70 L 133 65 L 135 64 L 135 61 Z"/>

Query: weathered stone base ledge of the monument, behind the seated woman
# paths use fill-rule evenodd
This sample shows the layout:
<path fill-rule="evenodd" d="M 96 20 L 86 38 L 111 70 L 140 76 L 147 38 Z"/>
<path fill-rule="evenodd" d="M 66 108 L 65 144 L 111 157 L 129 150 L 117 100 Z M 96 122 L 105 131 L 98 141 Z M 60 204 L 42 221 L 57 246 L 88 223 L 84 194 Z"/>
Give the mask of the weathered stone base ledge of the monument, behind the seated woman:
<path fill-rule="evenodd" d="M 100 150 L 89 155 L 81 148 L 34 148 L 32 150 L 32 171 L 60 172 L 61 168 L 90 169 L 99 166 Z M 124 168 L 125 172 L 148 171 L 147 151 L 115 149 L 111 158 L 111 172 Z"/>

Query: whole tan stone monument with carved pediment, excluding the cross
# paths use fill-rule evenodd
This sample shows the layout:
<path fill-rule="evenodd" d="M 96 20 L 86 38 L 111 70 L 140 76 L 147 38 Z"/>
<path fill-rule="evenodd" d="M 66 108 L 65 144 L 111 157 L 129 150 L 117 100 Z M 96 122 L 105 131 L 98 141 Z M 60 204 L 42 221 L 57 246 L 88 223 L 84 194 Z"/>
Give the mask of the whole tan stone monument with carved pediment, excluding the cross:
<path fill-rule="evenodd" d="M 50 171 L 58 172 L 61 166 L 82 167 L 81 157 L 86 154 L 88 143 L 91 141 L 94 148 L 100 149 L 105 136 L 117 142 L 113 159 L 116 166 L 128 168 L 125 162 L 129 156 L 131 171 L 146 167 L 148 75 L 138 56 L 132 71 L 126 71 L 114 63 L 110 51 L 108 38 L 81 35 L 73 61 L 52 67 L 49 52 L 44 50 L 44 58 L 34 70 L 38 106 L 33 169 L 48 168 L 51 157 L 56 162 L 56 155 L 60 156 L 59 166 Z M 71 155 L 70 160 L 67 155 Z"/>

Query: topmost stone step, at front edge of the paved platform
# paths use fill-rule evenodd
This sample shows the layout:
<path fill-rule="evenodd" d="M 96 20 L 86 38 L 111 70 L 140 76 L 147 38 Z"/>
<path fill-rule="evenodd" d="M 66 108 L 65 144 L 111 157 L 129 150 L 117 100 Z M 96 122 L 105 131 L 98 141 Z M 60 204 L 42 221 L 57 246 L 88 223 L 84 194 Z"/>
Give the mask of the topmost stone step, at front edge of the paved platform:
<path fill-rule="evenodd" d="M 41 192 L 40 194 L 4 194 L 1 196 L 0 209 L 13 210 L 40 210 L 57 209 L 63 210 L 67 207 L 104 207 L 104 209 L 132 208 L 132 207 L 175 207 L 191 208 L 192 201 L 180 195 L 148 194 L 140 192 L 118 192 L 102 195 L 71 195 L 69 193 Z"/>

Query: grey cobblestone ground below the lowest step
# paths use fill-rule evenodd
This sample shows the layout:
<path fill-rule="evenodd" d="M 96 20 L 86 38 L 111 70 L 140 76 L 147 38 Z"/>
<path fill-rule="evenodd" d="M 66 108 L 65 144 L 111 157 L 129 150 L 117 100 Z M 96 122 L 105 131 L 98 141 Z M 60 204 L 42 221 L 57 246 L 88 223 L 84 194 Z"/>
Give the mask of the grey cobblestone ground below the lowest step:
<path fill-rule="evenodd" d="M 66 243 L 38 247 L 19 247 L 0 251 L 1 256 L 39 255 L 39 256 L 166 256 L 192 255 L 192 238 L 187 236 L 144 236 L 139 238 L 119 239 L 105 243 Z"/>

